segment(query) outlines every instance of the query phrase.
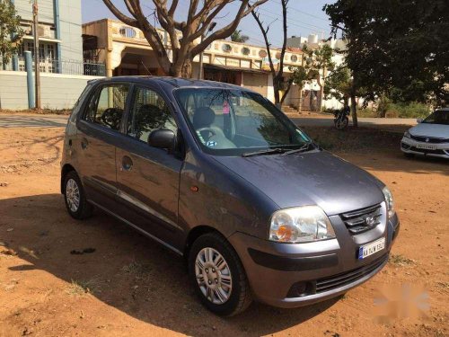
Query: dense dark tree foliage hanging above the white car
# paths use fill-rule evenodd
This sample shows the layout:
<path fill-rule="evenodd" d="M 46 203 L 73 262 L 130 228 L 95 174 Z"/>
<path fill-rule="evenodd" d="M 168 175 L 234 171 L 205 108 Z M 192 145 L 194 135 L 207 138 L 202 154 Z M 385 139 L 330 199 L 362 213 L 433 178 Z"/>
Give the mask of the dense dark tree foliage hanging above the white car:
<path fill-rule="evenodd" d="M 348 68 L 365 102 L 449 102 L 447 0 L 338 0 L 323 10 L 334 36 L 348 40 Z"/>

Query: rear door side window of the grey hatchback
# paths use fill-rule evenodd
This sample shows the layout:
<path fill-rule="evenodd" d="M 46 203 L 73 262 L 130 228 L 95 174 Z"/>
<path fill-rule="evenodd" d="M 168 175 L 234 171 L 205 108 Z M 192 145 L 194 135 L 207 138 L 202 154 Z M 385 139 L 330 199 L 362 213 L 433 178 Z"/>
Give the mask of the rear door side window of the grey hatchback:
<path fill-rule="evenodd" d="M 89 102 L 84 120 L 118 131 L 128 93 L 127 84 L 102 86 Z"/>

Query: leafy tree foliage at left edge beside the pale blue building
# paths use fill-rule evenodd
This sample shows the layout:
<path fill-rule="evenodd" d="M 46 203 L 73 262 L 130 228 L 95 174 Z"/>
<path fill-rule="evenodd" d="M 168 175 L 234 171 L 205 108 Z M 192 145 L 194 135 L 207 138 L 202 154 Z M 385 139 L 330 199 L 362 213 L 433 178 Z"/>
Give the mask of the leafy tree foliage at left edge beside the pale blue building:
<path fill-rule="evenodd" d="M 7 64 L 17 51 L 23 35 L 20 21 L 13 3 L 0 1 L 0 65 Z"/>

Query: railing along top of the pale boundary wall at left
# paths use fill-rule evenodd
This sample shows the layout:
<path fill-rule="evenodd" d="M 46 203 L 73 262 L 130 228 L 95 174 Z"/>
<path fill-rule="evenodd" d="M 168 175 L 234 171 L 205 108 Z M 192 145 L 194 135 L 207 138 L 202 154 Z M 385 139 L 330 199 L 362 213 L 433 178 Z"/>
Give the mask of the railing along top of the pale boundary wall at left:
<path fill-rule="evenodd" d="M 65 75 L 105 76 L 106 67 L 101 63 L 80 62 L 74 60 L 60 60 L 54 58 L 40 59 L 40 72 Z M 4 70 L 25 71 L 25 58 L 14 58 L 4 65 Z M 34 60 L 32 63 L 34 70 Z"/>

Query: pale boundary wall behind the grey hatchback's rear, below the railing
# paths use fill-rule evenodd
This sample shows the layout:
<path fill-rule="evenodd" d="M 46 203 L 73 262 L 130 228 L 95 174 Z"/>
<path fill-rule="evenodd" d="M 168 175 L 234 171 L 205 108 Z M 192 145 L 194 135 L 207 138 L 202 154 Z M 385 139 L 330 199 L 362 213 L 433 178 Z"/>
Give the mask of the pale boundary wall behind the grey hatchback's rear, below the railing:
<path fill-rule="evenodd" d="M 41 102 L 44 109 L 71 109 L 87 82 L 101 77 L 40 73 Z M 0 109 L 28 109 L 27 75 L 0 71 Z"/>

